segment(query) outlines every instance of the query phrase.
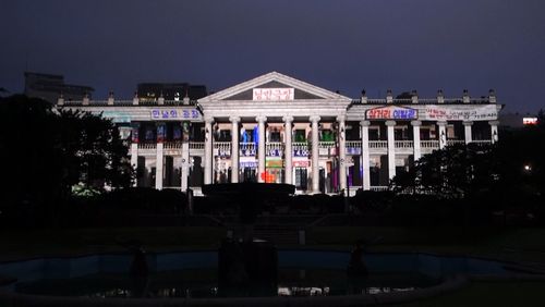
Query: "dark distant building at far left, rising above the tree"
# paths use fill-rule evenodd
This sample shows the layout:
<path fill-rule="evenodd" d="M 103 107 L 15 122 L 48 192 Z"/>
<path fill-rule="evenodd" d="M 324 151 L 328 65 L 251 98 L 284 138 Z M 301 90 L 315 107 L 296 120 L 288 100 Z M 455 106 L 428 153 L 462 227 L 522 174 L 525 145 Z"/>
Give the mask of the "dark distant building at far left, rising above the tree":
<path fill-rule="evenodd" d="M 25 72 L 25 95 L 56 103 L 59 96 L 65 100 L 82 100 L 95 89 L 89 86 L 64 83 L 64 76 Z"/>

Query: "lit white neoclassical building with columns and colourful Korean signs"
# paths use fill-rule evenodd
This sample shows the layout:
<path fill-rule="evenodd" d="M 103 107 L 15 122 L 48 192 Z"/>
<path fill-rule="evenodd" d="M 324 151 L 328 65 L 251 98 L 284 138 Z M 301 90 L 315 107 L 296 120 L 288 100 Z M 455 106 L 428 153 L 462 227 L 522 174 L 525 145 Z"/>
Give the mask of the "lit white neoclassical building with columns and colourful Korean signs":
<path fill-rule="evenodd" d="M 192 188 L 227 182 L 290 183 L 296 193 L 383 189 L 423 155 L 495 143 L 493 90 L 473 99 L 359 99 L 271 72 L 198 100 L 65 101 L 110 118 L 130 143 L 135 185 Z"/>

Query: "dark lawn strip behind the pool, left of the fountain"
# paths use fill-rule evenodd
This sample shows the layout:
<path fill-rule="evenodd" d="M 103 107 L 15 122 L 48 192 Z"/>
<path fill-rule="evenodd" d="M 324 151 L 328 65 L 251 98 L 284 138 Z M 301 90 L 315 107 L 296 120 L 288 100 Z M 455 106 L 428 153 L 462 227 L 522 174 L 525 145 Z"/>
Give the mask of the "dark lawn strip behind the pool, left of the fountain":
<path fill-rule="evenodd" d="M 10 230 L 0 233 L 0 260 L 124 251 L 118 242 L 140 241 L 148 251 L 216 248 L 221 228 L 101 228 Z"/>

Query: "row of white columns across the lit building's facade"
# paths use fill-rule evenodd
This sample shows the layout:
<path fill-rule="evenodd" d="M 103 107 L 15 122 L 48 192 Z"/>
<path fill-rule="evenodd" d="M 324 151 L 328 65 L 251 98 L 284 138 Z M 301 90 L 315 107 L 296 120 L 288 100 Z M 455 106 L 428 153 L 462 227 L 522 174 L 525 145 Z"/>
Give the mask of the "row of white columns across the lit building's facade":
<path fill-rule="evenodd" d="M 291 132 L 293 127 L 293 116 L 286 115 L 282 118 L 282 122 L 284 124 L 284 128 L 287 132 Z M 311 175 L 312 175 L 312 193 L 319 193 L 319 122 L 322 118 L 319 115 L 311 115 L 308 116 L 308 122 L 311 123 Z M 347 189 L 347 154 L 346 154 L 346 115 L 339 115 L 336 118 L 337 126 L 338 126 L 338 140 L 339 140 L 339 188 L 340 191 Z M 231 122 L 231 182 L 239 182 L 239 167 L 240 167 L 240 142 L 239 142 L 239 132 L 241 118 L 239 116 L 230 116 L 229 121 Z M 265 182 L 265 171 L 266 171 L 266 144 L 265 144 L 265 126 L 267 123 L 267 116 L 258 115 L 255 118 L 258 127 L 258 150 L 257 150 L 257 180 L 258 182 Z M 205 118 L 205 144 L 204 144 L 204 183 L 211 184 L 213 183 L 213 173 L 214 173 L 214 150 L 213 150 L 213 125 L 215 123 L 215 119 L 207 116 Z M 388 155 L 388 179 L 392 179 L 396 176 L 396 139 L 395 139 L 395 126 L 396 121 L 386 121 L 386 130 L 387 130 L 387 155 Z M 465 121 L 462 123 L 464 126 L 464 142 L 465 144 L 472 143 L 472 125 L 473 122 Z M 498 140 L 498 121 L 489 121 L 491 125 L 491 140 L 492 143 L 496 143 Z M 160 135 L 159 132 L 165 131 L 165 123 L 158 122 L 157 130 L 157 145 L 156 145 L 156 183 L 155 187 L 160 189 L 162 188 L 162 172 L 164 172 L 164 136 Z M 363 177 L 362 177 L 362 188 L 365 191 L 371 189 L 371 159 L 370 159 L 370 130 L 371 122 L 370 121 L 361 121 L 360 130 L 361 130 L 361 167 L 363 169 Z M 421 148 L 421 137 L 420 131 L 422 126 L 421 121 L 411 121 L 412 131 L 413 131 L 413 157 L 414 160 L 419 160 L 422 157 L 422 148 Z M 447 122 L 439 121 L 437 122 L 438 127 L 438 147 L 445 148 L 447 146 Z M 132 125 L 132 144 L 131 144 L 131 164 L 136 167 L 137 157 L 138 157 L 138 124 L 133 123 Z M 287 184 L 292 184 L 293 180 L 293 150 L 292 150 L 292 134 L 284 134 L 284 176 L 283 182 Z M 189 143 L 182 142 L 182 191 L 187 188 L 187 174 L 189 174 Z"/>

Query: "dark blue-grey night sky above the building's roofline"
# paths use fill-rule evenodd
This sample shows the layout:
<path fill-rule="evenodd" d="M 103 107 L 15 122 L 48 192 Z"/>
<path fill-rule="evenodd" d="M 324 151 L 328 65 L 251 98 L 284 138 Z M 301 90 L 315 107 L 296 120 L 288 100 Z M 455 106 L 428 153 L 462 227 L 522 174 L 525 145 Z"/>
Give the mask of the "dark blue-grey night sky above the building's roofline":
<path fill-rule="evenodd" d="M 269 71 L 356 98 L 495 88 L 545 108 L 543 0 L 0 0 L 0 87 L 25 70 L 130 99 L 140 82 L 219 90 Z"/>

